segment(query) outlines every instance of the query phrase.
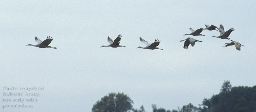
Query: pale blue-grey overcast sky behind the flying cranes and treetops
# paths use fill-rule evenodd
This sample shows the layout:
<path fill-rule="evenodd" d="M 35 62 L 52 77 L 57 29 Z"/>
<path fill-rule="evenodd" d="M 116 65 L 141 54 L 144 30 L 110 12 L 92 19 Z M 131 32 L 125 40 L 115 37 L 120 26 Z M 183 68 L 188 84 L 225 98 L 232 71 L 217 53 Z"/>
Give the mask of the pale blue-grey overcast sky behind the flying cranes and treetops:
<path fill-rule="evenodd" d="M 0 85 L 43 86 L 37 102 L 0 102 L 2 105 L 30 104 L 33 108 L 4 111 L 85 111 L 111 92 L 124 92 L 152 112 L 201 104 L 220 92 L 224 80 L 232 86 L 256 85 L 256 1 L 2 1 L 0 3 Z M 218 31 L 204 30 L 203 36 L 185 35 L 189 28 L 222 24 L 234 28 L 229 38 L 245 45 L 222 47 L 231 42 L 212 37 Z M 120 45 L 111 48 L 122 34 Z M 51 48 L 37 44 L 34 37 L 53 37 Z M 161 40 L 164 50 L 136 49 Z M 203 41 L 183 49 L 180 40 Z M 24 91 L 0 92 L 25 93 Z M 32 92 L 31 92 L 32 93 Z M 2 99 L 35 98 L 2 96 Z"/>

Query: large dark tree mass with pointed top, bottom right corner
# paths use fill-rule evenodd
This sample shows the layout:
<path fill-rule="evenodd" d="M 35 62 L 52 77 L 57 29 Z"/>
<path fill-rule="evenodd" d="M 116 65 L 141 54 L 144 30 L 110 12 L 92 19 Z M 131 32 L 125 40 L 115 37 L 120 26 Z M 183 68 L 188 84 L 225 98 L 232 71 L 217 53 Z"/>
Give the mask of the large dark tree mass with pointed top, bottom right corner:
<path fill-rule="evenodd" d="M 224 81 L 219 94 L 204 99 L 202 112 L 254 112 L 256 110 L 256 85 L 231 88 L 229 81 Z"/>

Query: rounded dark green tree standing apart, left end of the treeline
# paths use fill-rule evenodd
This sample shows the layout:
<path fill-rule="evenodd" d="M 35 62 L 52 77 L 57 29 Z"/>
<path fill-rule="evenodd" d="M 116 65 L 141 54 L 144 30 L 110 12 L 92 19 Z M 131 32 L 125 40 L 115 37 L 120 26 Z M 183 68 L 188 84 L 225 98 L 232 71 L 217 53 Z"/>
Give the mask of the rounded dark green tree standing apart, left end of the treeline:
<path fill-rule="evenodd" d="M 124 93 L 109 93 L 92 107 L 92 112 L 127 112 L 132 109 L 133 101 Z"/>

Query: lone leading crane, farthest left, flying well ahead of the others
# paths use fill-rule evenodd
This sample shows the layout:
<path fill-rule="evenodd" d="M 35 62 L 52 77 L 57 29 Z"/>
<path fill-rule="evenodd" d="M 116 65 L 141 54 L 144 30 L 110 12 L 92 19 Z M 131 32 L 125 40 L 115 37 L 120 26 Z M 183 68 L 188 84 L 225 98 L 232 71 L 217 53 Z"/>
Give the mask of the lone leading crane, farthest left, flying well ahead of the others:
<path fill-rule="evenodd" d="M 35 47 L 38 47 L 38 48 L 53 48 L 51 46 L 48 46 L 52 41 L 52 37 L 50 38 L 50 36 L 42 42 L 41 40 L 39 40 L 37 37 L 35 37 L 35 41 L 38 43 L 36 45 L 32 45 L 32 44 L 27 44 L 27 45 L 32 45 L 32 46 L 35 46 Z M 54 49 L 57 49 L 57 48 L 54 48 Z"/>

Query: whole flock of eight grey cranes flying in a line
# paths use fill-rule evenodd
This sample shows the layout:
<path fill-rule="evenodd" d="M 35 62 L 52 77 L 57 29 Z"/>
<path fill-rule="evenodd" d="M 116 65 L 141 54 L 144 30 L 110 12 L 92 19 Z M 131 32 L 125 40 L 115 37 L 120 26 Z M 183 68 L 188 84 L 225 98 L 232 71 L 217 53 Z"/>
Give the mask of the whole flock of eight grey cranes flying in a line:
<path fill-rule="evenodd" d="M 197 30 L 193 30 L 192 28 L 190 28 L 189 30 L 191 31 L 190 34 L 184 34 L 184 35 L 193 35 L 193 36 L 205 36 L 205 35 L 202 35 L 200 34 L 203 30 L 216 30 L 216 26 L 214 25 L 205 25 L 206 28 L 200 28 L 200 29 L 197 29 Z M 220 38 L 220 39 L 228 39 L 230 40 L 229 35 L 232 31 L 234 31 L 235 29 L 234 28 L 230 28 L 228 31 L 224 31 L 224 27 L 222 26 L 222 24 L 220 24 L 220 27 L 217 28 L 218 30 L 216 31 L 219 31 L 220 32 L 220 35 L 217 37 L 217 36 L 212 36 L 212 37 L 216 37 L 216 38 Z M 122 45 L 119 45 L 120 41 L 121 41 L 121 37 L 122 35 L 119 34 L 117 36 L 117 38 L 113 41 L 110 37 L 108 37 L 108 42 L 110 43 L 109 45 L 102 45 L 101 47 L 112 47 L 112 48 L 117 48 L 117 47 L 126 47 L 126 46 L 122 46 Z M 138 48 L 142 48 L 142 49 L 151 49 L 151 50 L 154 50 L 154 49 L 160 49 L 160 48 L 157 48 L 157 46 L 159 45 L 160 41 L 158 39 L 155 39 L 155 42 L 153 43 L 148 43 L 146 40 L 142 39 L 141 37 L 139 37 L 140 41 L 144 44 L 146 44 L 146 47 L 138 47 Z M 54 49 L 57 49 L 56 47 L 51 47 L 51 46 L 48 46 L 52 41 L 52 37 L 50 36 L 47 36 L 46 40 L 44 41 L 41 41 L 39 40 L 37 37 L 35 37 L 35 41 L 38 43 L 36 45 L 32 45 L 32 44 L 28 44 L 28 45 L 32 45 L 32 46 L 35 46 L 35 47 L 39 47 L 39 48 L 54 48 Z M 186 38 L 185 40 L 181 40 L 180 42 L 182 41 L 185 41 L 184 42 L 184 46 L 183 48 L 184 49 L 188 49 L 189 47 L 189 44 L 191 44 L 192 47 L 194 47 L 195 45 L 195 42 L 202 42 L 202 41 L 199 41 L 199 40 L 196 40 L 196 39 L 193 39 L 191 37 L 189 38 Z M 236 42 L 236 41 L 232 41 L 230 40 L 231 42 L 230 43 L 225 43 L 223 47 L 228 47 L 230 45 L 235 45 L 236 49 L 240 51 L 240 48 L 241 48 L 241 44 L 239 42 Z M 242 45 L 244 46 L 244 45 Z M 161 49 L 163 50 L 163 49 Z"/>

